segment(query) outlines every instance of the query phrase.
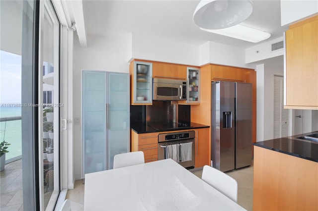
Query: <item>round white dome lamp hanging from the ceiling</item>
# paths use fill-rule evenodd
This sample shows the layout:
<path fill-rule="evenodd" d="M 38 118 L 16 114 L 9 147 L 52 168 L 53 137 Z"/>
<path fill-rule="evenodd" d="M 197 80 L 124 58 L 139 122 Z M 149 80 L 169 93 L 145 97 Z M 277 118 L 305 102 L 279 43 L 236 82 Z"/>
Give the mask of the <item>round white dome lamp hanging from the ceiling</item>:
<path fill-rule="evenodd" d="M 204 29 L 224 29 L 246 20 L 252 11 L 251 0 L 201 0 L 193 21 Z"/>

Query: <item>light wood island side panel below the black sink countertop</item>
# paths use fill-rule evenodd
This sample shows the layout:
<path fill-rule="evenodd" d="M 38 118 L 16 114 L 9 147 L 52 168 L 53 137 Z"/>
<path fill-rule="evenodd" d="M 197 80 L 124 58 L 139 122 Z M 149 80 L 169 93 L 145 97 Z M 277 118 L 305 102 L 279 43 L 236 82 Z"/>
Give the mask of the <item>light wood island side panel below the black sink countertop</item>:
<path fill-rule="evenodd" d="M 254 146 L 253 210 L 317 211 L 318 162 Z"/>

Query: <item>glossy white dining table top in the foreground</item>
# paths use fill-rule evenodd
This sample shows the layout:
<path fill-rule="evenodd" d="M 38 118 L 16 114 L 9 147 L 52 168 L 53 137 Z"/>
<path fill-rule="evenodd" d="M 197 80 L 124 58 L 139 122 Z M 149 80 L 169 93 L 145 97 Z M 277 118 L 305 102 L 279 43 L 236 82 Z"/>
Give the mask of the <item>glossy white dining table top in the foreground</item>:
<path fill-rule="evenodd" d="M 172 159 L 85 174 L 84 210 L 245 210 Z"/>

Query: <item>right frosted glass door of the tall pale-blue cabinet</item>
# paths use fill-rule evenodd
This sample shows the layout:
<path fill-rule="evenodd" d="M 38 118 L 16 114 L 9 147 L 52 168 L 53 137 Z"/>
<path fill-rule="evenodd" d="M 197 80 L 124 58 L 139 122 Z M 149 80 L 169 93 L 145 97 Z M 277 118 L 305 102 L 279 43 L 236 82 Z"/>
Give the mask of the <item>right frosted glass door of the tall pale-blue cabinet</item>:
<path fill-rule="evenodd" d="M 107 169 L 114 156 L 130 151 L 130 83 L 128 73 L 107 73 Z"/>

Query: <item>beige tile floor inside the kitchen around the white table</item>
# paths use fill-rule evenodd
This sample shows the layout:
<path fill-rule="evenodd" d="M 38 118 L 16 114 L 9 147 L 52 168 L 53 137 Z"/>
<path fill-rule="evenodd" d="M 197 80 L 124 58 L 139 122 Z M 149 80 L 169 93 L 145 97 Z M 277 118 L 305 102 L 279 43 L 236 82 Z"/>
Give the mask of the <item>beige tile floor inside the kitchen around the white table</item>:
<path fill-rule="evenodd" d="M 192 173 L 199 178 L 202 176 L 202 170 L 193 171 Z M 229 171 L 227 174 L 238 181 L 238 204 L 247 211 L 252 211 L 253 166 Z M 82 180 L 77 180 L 75 182 L 75 188 L 73 190 L 68 190 L 66 198 L 71 201 L 72 211 L 84 210 L 84 185 Z"/>

